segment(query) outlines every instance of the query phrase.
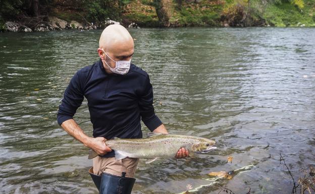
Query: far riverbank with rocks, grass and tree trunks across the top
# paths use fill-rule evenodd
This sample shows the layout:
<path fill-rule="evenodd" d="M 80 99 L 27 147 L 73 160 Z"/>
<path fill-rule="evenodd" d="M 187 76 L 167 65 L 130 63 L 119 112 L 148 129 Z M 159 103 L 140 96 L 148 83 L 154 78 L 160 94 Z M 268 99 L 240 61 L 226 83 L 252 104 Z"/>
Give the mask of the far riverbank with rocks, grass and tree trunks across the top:
<path fill-rule="evenodd" d="M 315 2 L 311 0 L 105 1 L 108 5 L 103 7 L 95 1 L 75 6 L 71 0 L 52 2 L 38 3 L 41 15 L 38 10 L 27 15 L 24 4 L 15 5 L 15 15 L 2 10 L 0 31 L 91 30 L 114 23 L 129 28 L 315 27 Z"/>

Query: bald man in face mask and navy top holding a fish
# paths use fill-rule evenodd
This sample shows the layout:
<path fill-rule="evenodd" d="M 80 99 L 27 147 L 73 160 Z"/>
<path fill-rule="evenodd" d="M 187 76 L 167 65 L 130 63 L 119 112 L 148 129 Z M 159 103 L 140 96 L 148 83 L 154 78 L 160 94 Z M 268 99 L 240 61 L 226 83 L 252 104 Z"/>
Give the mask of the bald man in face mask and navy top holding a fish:
<path fill-rule="evenodd" d="M 98 154 L 89 172 L 100 193 L 130 193 L 139 159 L 116 160 L 106 140 L 142 138 L 140 120 L 151 132 L 168 132 L 154 113 L 149 76 L 130 63 L 134 43 L 129 32 L 121 25 L 108 26 L 100 36 L 97 52 L 100 60 L 79 70 L 71 79 L 57 120 L 68 134 Z M 73 119 L 84 97 L 93 138 L 85 135 Z M 188 151 L 181 148 L 175 157 L 186 156 Z"/>

